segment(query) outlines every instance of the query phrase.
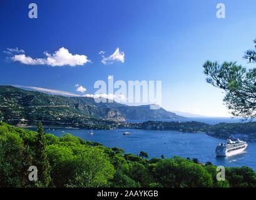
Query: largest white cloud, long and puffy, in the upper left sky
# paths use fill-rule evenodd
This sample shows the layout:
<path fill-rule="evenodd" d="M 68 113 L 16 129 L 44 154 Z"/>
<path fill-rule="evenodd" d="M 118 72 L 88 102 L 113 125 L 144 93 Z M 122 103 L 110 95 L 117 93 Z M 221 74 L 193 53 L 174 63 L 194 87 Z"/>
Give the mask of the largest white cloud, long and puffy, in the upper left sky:
<path fill-rule="evenodd" d="M 54 54 L 49 54 L 44 52 L 46 58 L 36 58 L 33 59 L 25 54 L 15 55 L 13 56 L 13 61 L 19 61 L 23 64 L 45 64 L 49 66 L 76 66 L 76 65 L 84 65 L 86 63 L 90 63 L 91 61 L 87 59 L 87 56 L 84 55 L 72 55 L 69 53 L 68 49 L 61 47 L 58 51 L 55 51 Z"/>

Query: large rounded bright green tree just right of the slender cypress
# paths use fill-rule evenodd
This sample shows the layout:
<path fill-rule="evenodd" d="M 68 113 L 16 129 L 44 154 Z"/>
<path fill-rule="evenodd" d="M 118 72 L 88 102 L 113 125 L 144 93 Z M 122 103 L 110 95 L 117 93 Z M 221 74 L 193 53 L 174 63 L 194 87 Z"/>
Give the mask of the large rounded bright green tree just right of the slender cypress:
<path fill-rule="evenodd" d="M 104 187 L 115 174 L 101 146 L 58 143 L 47 146 L 46 153 L 56 187 Z"/>

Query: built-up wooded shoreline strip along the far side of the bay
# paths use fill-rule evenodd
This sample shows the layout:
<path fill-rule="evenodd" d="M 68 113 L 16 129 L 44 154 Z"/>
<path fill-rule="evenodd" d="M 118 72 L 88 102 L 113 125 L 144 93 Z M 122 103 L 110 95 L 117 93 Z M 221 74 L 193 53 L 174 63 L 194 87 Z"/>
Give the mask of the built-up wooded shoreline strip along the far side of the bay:
<path fill-rule="evenodd" d="M 4 119 L 0 121 L 26 128 L 36 126 L 38 120 Z M 144 121 L 140 123 L 115 121 L 90 116 L 57 116 L 55 119 L 41 120 L 45 127 L 76 128 L 76 129 L 145 129 L 159 131 L 178 131 L 180 133 L 202 133 L 216 138 L 256 141 L 256 122 L 206 124 L 197 121 Z"/>

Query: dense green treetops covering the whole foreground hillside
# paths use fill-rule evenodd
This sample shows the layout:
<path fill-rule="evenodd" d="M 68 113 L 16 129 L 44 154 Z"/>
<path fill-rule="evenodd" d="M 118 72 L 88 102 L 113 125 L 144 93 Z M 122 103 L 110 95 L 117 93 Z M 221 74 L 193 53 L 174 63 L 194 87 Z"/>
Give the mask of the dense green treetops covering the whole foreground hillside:
<path fill-rule="evenodd" d="M 217 166 L 197 159 L 151 158 L 125 154 L 70 134 L 60 138 L 0 123 L 0 187 L 255 187 L 256 174 L 247 167 L 225 168 L 217 181 Z M 39 159 L 39 160 L 38 160 Z M 38 167 L 38 181 L 28 168 Z M 40 172 L 40 169 L 44 169 Z"/>

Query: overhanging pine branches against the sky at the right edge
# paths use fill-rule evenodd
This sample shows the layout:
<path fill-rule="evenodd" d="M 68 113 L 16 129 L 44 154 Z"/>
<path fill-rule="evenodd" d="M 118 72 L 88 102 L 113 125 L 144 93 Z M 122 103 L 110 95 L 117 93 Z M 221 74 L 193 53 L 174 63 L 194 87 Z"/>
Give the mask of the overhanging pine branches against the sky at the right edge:
<path fill-rule="evenodd" d="M 256 44 L 256 40 L 254 40 Z M 255 46 L 256 49 L 256 46 Z M 243 58 L 256 63 L 256 51 L 248 50 Z M 256 118 L 256 68 L 246 69 L 236 62 L 207 61 L 203 64 L 207 83 L 225 91 L 225 102 L 233 116 Z"/>

